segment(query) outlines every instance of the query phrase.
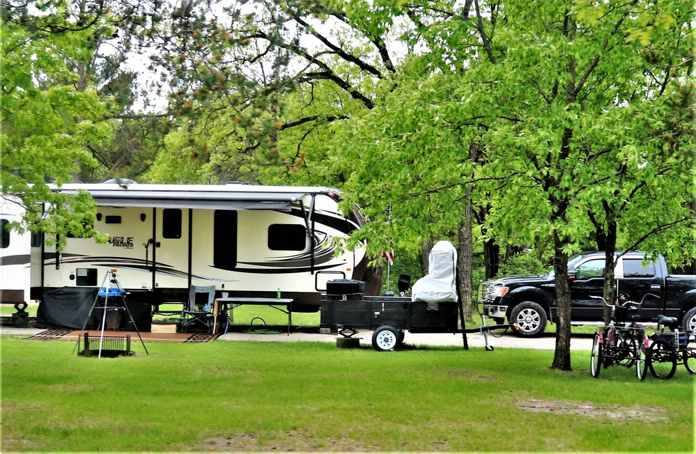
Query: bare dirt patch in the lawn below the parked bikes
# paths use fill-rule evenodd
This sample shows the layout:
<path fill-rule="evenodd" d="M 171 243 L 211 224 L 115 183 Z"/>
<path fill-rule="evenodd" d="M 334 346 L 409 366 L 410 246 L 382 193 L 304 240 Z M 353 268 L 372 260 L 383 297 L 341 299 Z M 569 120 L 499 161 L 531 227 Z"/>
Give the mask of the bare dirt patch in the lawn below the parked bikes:
<path fill-rule="evenodd" d="M 573 400 L 518 400 L 516 405 L 524 412 L 576 414 L 588 418 L 610 418 L 615 420 L 640 419 L 654 422 L 667 419 L 667 409 L 649 405 L 623 407 L 621 405 L 597 405 L 592 402 Z"/>

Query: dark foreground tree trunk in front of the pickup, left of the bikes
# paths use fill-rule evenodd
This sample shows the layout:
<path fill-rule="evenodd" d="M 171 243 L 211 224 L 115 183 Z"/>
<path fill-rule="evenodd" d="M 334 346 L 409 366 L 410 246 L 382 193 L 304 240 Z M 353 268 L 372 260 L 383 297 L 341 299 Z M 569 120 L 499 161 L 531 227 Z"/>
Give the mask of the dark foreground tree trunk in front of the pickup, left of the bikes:
<path fill-rule="evenodd" d="M 556 284 L 556 349 L 553 354 L 552 369 L 573 370 L 571 368 L 571 288 L 568 283 L 568 254 L 563 251 L 566 244 L 557 232 L 553 234 L 553 269 Z"/>

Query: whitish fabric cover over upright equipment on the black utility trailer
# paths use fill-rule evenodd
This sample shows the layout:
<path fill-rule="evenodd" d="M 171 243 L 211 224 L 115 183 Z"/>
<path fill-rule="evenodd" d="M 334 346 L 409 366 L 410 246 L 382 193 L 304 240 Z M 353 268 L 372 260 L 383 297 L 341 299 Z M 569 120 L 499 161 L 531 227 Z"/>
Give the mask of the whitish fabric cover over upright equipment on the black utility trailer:
<path fill-rule="evenodd" d="M 412 301 L 428 303 L 428 309 L 438 310 L 438 303 L 457 301 L 457 249 L 449 241 L 438 241 L 430 252 L 428 274 L 413 284 Z"/>

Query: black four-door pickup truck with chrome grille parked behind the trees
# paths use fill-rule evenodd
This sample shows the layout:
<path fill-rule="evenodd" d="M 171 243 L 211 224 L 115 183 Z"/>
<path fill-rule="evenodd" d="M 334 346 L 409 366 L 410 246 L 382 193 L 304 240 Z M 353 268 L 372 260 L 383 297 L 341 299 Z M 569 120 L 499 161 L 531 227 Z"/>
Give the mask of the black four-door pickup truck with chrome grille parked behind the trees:
<path fill-rule="evenodd" d="M 618 253 L 617 253 L 618 255 Z M 614 276 L 617 293 L 640 302 L 643 322 L 658 314 L 679 318 L 681 327 L 696 331 L 696 276 L 673 275 L 663 256 L 643 263 L 645 254 L 628 252 L 619 257 Z M 581 253 L 568 261 L 571 288 L 571 324 L 603 322 L 603 302 L 591 296 L 602 295 L 604 252 Z M 518 324 L 519 336 L 538 336 L 553 322 L 557 313 L 554 273 L 539 276 L 509 276 L 481 283 L 479 304 L 498 324 L 507 318 Z"/>

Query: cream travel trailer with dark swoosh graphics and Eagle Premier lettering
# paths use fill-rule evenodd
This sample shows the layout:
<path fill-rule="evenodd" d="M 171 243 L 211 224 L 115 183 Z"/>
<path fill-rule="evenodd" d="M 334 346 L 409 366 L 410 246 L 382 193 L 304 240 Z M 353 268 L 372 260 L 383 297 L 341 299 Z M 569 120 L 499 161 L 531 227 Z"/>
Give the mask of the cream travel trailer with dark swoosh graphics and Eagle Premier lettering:
<path fill-rule="evenodd" d="M 42 245 L 41 283 L 32 294 L 95 289 L 116 269 L 128 299 L 150 306 L 185 302 L 190 285 L 217 295 L 293 299 L 292 310 L 318 311 L 327 281 L 365 279 L 364 248 L 337 253 L 334 240 L 362 226 L 342 214 L 327 187 L 228 185 L 63 185 L 97 203 L 95 230 L 109 235 Z M 379 291 L 379 283 L 372 285 Z"/>

